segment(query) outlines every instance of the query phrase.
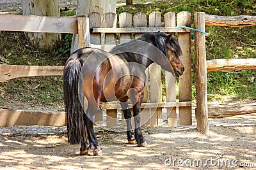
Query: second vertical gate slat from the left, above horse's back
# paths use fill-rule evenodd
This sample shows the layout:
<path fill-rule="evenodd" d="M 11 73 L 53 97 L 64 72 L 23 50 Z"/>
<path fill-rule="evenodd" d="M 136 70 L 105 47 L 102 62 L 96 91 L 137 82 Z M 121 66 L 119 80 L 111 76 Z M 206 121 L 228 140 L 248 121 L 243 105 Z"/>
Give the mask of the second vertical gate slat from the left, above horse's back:
<path fill-rule="evenodd" d="M 109 29 L 116 28 L 117 15 L 116 13 L 106 13 L 105 15 L 105 27 Z M 104 50 L 109 52 L 114 46 L 116 46 L 116 32 L 105 34 Z"/>

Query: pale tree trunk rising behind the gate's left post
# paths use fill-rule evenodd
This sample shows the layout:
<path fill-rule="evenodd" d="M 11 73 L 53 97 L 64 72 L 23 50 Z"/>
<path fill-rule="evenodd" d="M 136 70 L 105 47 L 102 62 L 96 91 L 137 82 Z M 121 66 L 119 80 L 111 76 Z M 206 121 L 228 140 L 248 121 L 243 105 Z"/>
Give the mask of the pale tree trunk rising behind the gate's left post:
<path fill-rule="evenodd" d="M 101 22 L 104 21 L 104 14 L 108 12 L 116 13 L 116 1 L 115 0 L 77 0 L 76 15 L 86 15 L 89 13 L 99 12 L 101 15 Z M 102 24 L 103 25 L 103 24 Z M 78 36 L 73 34 L 72 45 L 70 52 L 74 52 L 78 49 Z"/>

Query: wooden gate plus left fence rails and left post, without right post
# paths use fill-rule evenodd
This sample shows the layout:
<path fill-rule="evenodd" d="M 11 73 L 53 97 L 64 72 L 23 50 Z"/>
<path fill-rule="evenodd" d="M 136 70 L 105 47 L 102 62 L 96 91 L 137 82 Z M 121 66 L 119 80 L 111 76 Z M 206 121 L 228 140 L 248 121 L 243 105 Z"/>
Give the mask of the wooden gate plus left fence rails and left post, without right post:
<path fill-rule="evenodd" d="M 161 13 L 150 13 L 148 21 L 144 13 L 136 13 L 133 17 L 130 13 L 121 13 L 118 16 L 119 27 L 117 27 L 117 15 L 115 13 L 106 13 L 104 24 L 100 23 L 100 14 L 95 12 L 90 13 L 88 18 L 0 15 L 0 31 L 78 33 L 79 48 L 92 46 L 106 51 L 109 51 L 115 45 L 138 38 L 145 32 L 178 32 L 178 40 L 184 53 L 181 60 L 186 68 L 184 75 L 179 78 L 179 101 L 176 99 L 175 78 L 171 73 L 164 72 L 165 79 L 161 80 L 161 68 L 157 64 L 152 64 L 146 70 L 148 76 L 147 87 L 150 87 L 150 90 L 148 90 L 149 88 L 145 89 L 141 122 L 145 125 L 159 125 L 163 117 L 163 107 L 166 107 L 170 126 L 177 125 L 177 108 L 179 108 L 179 125 L 191 125 L 191 35 L 188 29 L 176 27 L 176 17 L 177 25 L 189 27 L 191 25 L 190 16 L 190 13 L 186 11 L 178 13 L 177 16 L 173 12 L 165 13 L 163 16 L 164 24 L 162 24 Z M 100 27 L 101 25 L 103 27 Z M 162 25 L 164 27 L 161 27 Z M 63 75 L 62 66 L 0 65 L 0 70 L 0 82 L 28 76 Z M 165 96 L 162 94 L 162 81 L 165 81 L 166 84 Z M 163 96 L 166 97 L 165 102 L 162 101 Z M 115 126 L 117 110 L 120 108 L 119 104 L 100 104 L 100 108 L 106 110 L 107 119 L 106 122 L 103 122 L 102 112 L 99 111 L 96 123 Z M 122 118 L 124 119 L 123 116 Z M 8 125 L 65 125 L 65 113 L 56 115 L 56 113 L 1 109 L 0 127 Z"/>

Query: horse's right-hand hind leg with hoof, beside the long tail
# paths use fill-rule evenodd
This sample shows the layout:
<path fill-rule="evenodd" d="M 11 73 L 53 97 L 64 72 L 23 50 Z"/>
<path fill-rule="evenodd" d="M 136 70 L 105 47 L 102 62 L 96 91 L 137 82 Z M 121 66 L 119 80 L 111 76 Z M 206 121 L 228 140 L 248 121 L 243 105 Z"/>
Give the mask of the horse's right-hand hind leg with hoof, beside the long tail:
<path fill-rule="evenodd" d="M 93 130 L 93 124 L 95 121 L 95 114 L 97 113 L 97 109 L 97 106 L 90 106 L 90 104 L 88 104 L 88 109 L 86 110 L 86 114 L 84 114 L 84 122 L 86 125 L 89 139 L 88 155 L 100 156 L 102 155 L 102 148 L 98 145 L 98 140 Z"/>

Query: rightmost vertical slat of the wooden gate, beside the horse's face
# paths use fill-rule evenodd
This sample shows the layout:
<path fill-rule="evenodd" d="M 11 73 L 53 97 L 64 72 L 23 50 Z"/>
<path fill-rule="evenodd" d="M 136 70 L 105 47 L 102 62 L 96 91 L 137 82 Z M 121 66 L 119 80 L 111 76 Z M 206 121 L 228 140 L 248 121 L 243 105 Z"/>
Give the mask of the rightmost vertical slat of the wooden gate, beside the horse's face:
<path fill-rule="evenodd" d="M 182 11 L 177 14 L 177 25 L 191 26 L 191 14 Z M 191 75 L 191 34 L 188 32 L 179 32 L 178 41 L 182 50 L 182 61 L 185 71 L 179 78 L 179 101 L 192 100 L 192 75 Z M 179 123 L 180 125 L 192 125 L 192 108 L 179 107 Z"/>

